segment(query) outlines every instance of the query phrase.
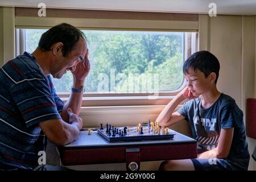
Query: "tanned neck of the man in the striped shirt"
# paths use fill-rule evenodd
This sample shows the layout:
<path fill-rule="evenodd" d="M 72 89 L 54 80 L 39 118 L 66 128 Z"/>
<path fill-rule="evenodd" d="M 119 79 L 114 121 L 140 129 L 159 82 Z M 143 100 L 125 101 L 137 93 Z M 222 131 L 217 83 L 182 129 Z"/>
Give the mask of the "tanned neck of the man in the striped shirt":
<path fill-rule="evenodd" d="M 41 51 L 39 48 L 36 48 L 32 53 L 38 62 L 39 66 L 43 69 L 45 75 L 50 73 L 51 60 L 47 52 Z"/>

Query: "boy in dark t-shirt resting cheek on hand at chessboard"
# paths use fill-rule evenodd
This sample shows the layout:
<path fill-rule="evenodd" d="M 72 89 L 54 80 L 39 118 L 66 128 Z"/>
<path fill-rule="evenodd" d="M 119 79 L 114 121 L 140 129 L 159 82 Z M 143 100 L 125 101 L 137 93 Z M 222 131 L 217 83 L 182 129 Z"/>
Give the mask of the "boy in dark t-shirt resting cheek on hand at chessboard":
<path fill-rule="evenodd" d="M 186 119 L 199 155 L 196 159 L 163 162 L 160 170 L 247 170 L 250 156 L 243 113 L 232 97 L 218 92 L 219 70 L 218 59 L 208 51 L 193 53 L 185 61 L 186 87 L 156 121 L 168 127 Z M 189 101 L 173 113 L 185 99 Z"/>

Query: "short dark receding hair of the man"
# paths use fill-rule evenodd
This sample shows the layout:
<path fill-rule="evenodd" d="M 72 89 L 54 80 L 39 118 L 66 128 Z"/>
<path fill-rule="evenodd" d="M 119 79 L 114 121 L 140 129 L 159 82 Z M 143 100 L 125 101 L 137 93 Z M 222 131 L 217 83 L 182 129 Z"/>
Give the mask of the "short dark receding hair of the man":
<path fill-rule="evenodd" d="M 38 47 L 43 51 L 50 51 L 53 44 L 62 42 L 62 53 L 65 57 L 76 47 L 80 37 L 86 39 L 81 30 L 73 27 L 71 24 L 61 23 L 43 33 L 39 40 Z"/>

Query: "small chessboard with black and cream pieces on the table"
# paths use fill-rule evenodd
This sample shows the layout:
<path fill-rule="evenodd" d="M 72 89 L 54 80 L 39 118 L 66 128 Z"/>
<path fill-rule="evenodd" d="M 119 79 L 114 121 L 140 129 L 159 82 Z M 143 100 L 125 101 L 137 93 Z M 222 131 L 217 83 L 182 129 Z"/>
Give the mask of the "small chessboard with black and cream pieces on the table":
<path fill-rule="evenodd" d="M 150 127 L 143 127 L 143 132 L 137 131 L 136 126 L 117 127 L 110 132 L 106 131 L 106 128 L 97 128 L 98 134 L 104 137 L 109 142 L 126 142 L 133 140 L 155 140 L 155 139 L 173 139 L 175 134 L 171 133 L 168 129 L 168 134 L 155 133 L 151 131 Z M 124 132 L 125 131 L 125 132 Z"/>

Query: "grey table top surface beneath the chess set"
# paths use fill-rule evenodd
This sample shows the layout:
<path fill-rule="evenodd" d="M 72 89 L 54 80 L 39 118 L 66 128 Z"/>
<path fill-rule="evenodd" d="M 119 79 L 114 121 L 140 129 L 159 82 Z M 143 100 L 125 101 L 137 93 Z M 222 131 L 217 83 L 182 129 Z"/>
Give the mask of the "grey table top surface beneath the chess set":
<path fill-rule="evenodd" d="M 171 130 L 171 134 L 174 134 L 174 139 L 154 139 L 154 140 L 137 140 L 126 142 L 109 142 L 103 138 L 97 131 L 91 131 L 91 135 L 88 135 L 88 131 L 80 131 L 79 137 L 72 143 L 63 146 L 63 149 L 71 148 L 104 148 L 104 147 L 121 147 L 121 146 L 143 146 L 143 145 L 158 145 L 158 144 L 178 144 L 178 143 L 196 143 L 195 139 L 180 134 L 174 130 Z"/>

